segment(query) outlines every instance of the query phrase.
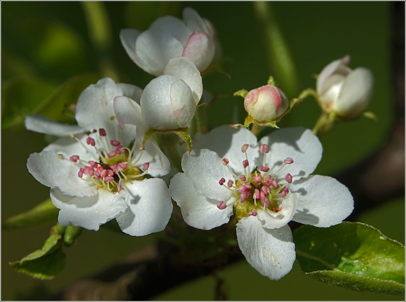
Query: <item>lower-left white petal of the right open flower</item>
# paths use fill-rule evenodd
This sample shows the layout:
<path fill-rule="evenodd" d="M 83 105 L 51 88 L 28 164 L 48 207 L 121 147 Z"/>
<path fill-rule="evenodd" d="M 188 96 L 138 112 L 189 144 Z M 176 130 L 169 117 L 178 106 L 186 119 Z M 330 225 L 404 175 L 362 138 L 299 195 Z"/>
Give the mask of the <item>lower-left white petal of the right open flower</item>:
<path fill-rule="evenodd" d="M 185 222 L 197 229 L 213 229 L 229 222 L 230 216 L 233 215 L 233 206 L 224 210 L 218 209 L 218 201 L 197 192 L 185 173 L 177 173 L 171 179 L 169 192 L 179 205 Z"/>

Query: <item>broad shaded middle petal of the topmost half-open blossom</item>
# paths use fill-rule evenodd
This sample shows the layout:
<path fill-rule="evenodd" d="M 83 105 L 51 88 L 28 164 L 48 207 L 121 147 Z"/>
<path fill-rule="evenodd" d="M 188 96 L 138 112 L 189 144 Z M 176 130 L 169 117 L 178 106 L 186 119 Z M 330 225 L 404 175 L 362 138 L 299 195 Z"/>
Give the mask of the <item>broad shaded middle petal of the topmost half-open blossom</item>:
<path fill-rule="evenodd" d="M 161 76 L 168 61 L 182 51 L 183 45 L 166 30 L 145 30 L 135 44 L 138 66 L 154 76 Z"/>

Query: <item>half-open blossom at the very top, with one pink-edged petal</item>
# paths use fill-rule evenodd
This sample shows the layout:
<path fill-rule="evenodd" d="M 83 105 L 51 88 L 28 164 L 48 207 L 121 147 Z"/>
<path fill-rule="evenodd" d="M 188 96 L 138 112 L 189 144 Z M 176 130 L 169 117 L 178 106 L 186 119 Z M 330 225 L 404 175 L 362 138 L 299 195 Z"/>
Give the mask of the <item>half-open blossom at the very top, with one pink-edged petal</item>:
<path fill-rule="evenodd" d="M 177 57 L 188 58 L 204 71 L 220 52 L 214 26 L 190 7 L 183 10 L 183 20 L 160 17 L 144 32 L 122 29 L 120 39 L 134 63 L 154 76 L 164 74 L 169 60 Z"/>

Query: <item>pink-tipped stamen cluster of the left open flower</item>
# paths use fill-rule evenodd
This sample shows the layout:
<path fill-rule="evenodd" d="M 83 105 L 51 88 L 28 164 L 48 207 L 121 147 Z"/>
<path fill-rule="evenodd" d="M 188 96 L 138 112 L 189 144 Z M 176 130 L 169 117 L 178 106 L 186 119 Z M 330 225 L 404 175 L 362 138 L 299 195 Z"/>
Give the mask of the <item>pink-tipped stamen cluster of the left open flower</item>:
<path fill-rule="evenodd" d="M 97 132 L 97 130 L 93 130 L 93 133 L 95 132 Z M 90 136 L 86 138 L 86 144 L 88 146 L 84 145 L 78 138 L 73 136 L 73 134 L 71 134 L 71 138 L 76 139 L 87 152 L 99 159 L 98 162 L 93 160 L 85 162 L 80 159 L 79 155 L 69 157 L 71 162 L 77 163 L 80 166 L 78 177 L 84 181 L 92 181 L 99 188 L 106 188 L 109 191 L 115 191 L 115 189 L 117 189 L 117 191 L 120 192 L 125 188 L 125 181 L 143 177 L 148 173 L 149 162 L 143 164 L 142 169 L 145 171 L 144 173 L 141 173 L 135 166 L 143 153 L 143 151 L 141 151 L 137 158 L 133 158 L 136 146 L 135 142 L 131 150 L 127 147 L 123 147 L 118 140 L 110 140 L 109 144 L 106 137 L 106 130 L 103 128 L 99 129 L 99 136 L 96 137 L 100 149 L 96 147 L 95 139 Z M 110 145 L 112 147 L 110 147 Z M 93 149 L 88 148 L 90 146 L 93 147 Z M 81 166 L 82 164 L 84 164 L 84 166 Z M 87 164 L 89 164 L 89 166 Z M 84 175 L 87 175 L 87 177 L 84 178 Z"/>

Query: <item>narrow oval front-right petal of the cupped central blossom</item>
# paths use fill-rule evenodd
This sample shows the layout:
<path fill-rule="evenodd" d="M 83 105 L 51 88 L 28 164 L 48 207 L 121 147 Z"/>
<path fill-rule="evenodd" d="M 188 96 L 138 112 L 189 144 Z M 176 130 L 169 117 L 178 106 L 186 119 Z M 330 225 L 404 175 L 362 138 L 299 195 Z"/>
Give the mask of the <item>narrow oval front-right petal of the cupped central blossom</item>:
<path fill-rule="evenodd" d="M 196 112 L 196 103 L 192 90 L 183 80 L 171 85 L 171 110 L 176 123 L 181 128 L 188 127 Z"/>

